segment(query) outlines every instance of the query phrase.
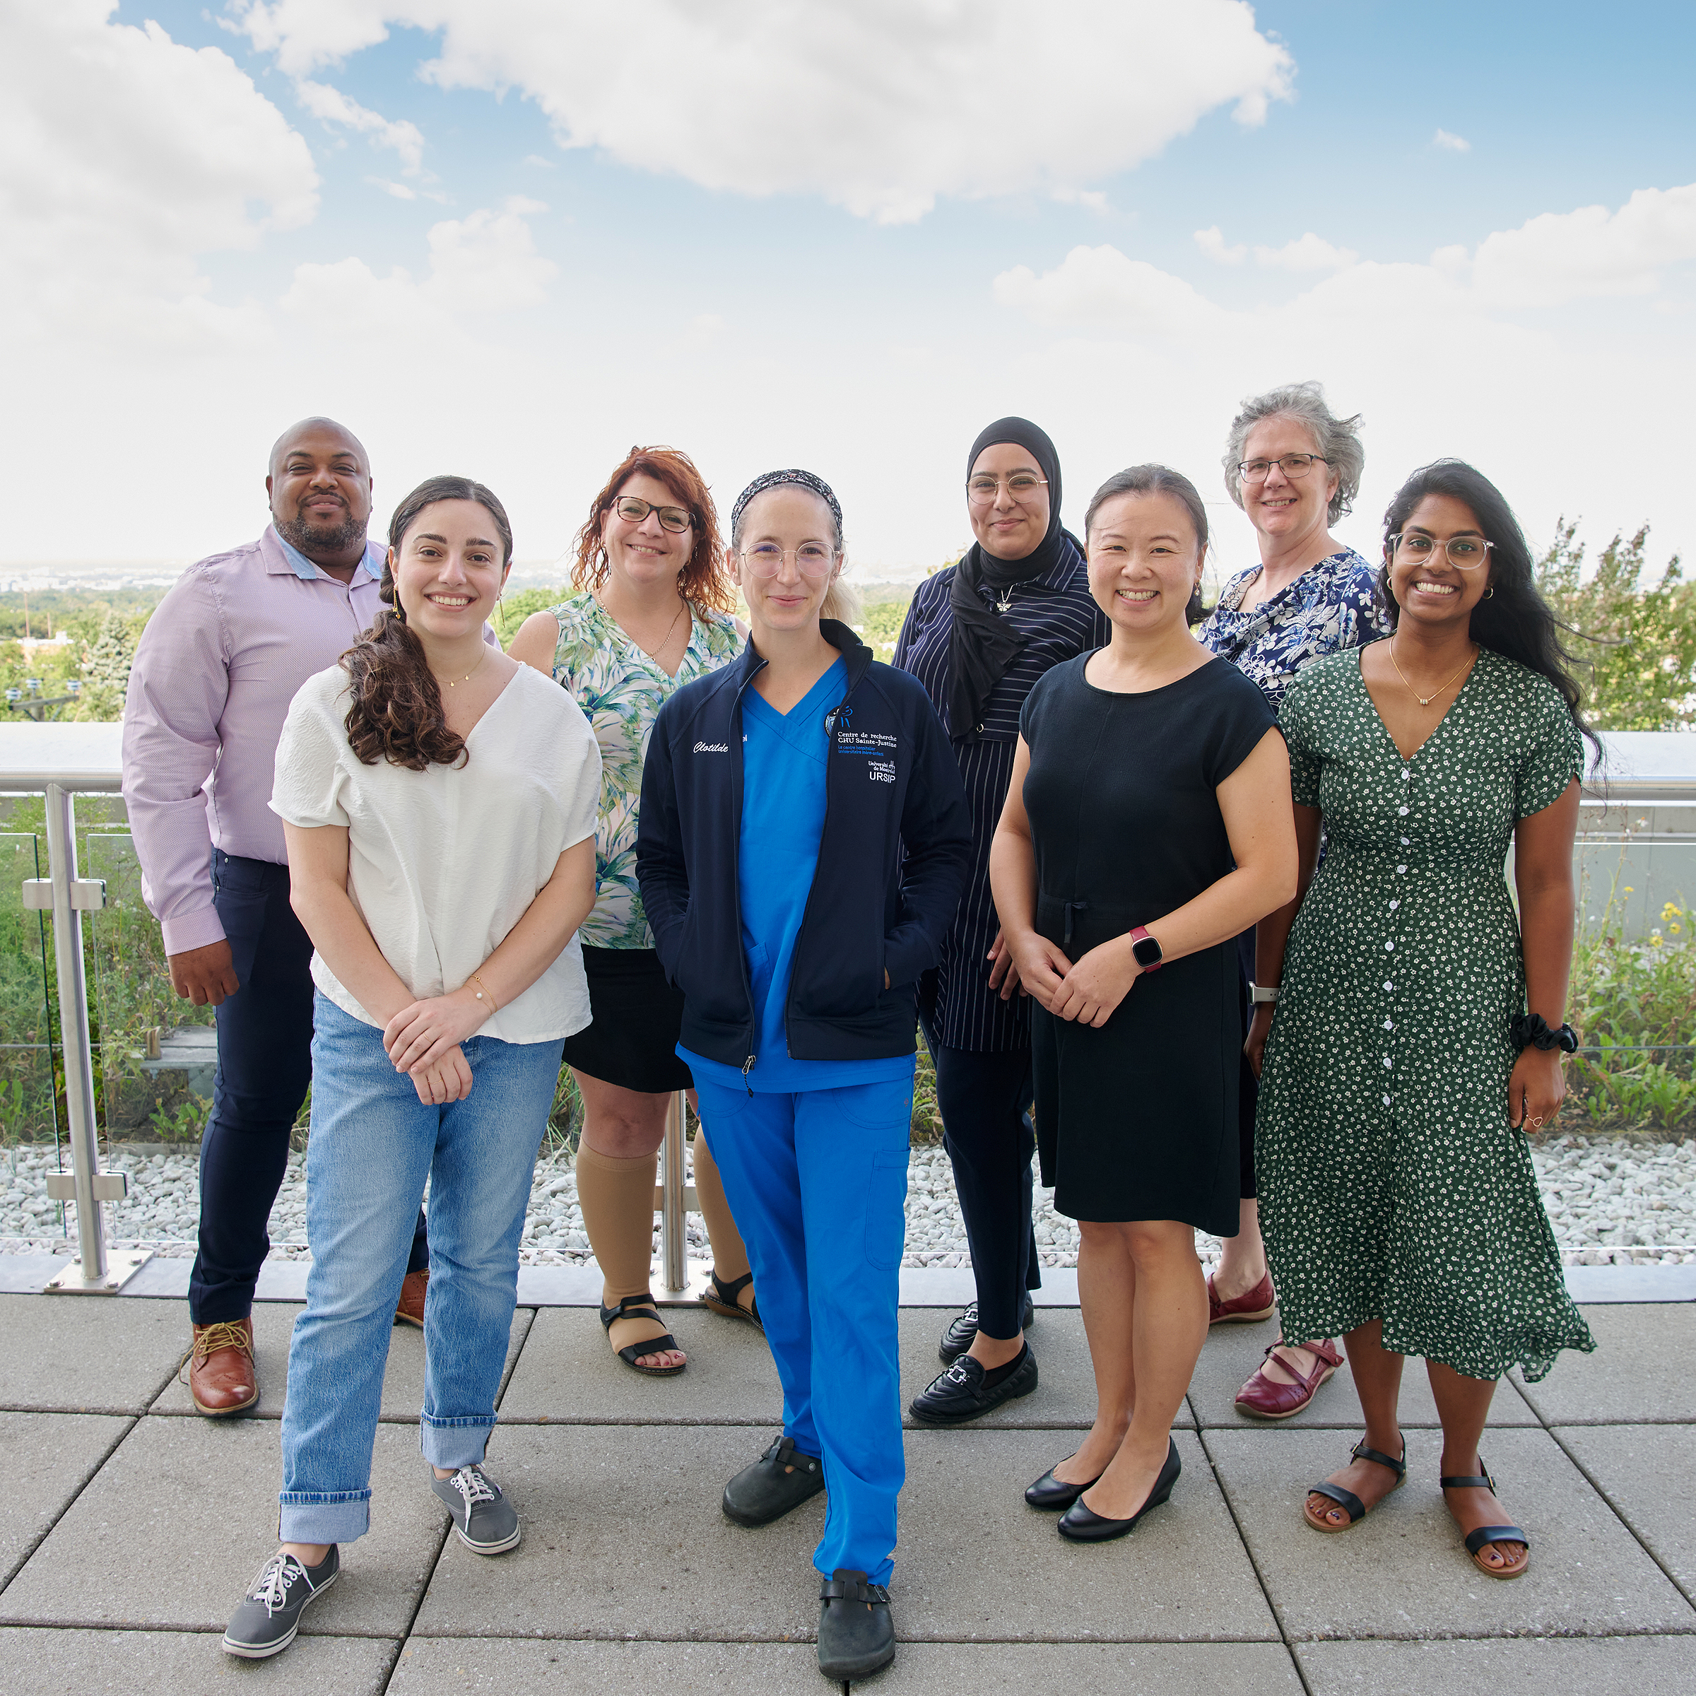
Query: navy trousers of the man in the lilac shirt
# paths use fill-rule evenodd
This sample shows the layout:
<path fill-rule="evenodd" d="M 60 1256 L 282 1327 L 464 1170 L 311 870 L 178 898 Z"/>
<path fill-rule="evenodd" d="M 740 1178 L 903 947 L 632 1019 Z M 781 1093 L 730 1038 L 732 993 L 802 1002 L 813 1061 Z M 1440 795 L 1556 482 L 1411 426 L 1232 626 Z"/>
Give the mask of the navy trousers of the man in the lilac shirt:
<path fill-rule="evenodd" d="M 288 906 L 288 867 L 214 850 L 212 904 L 241 989 L 217 1009 L 217 1079 L 200 1138 L 200 1240 L 188 1275 L 195 1325 L 244 1319 L 253 1309 L 288 1133 L 312 1080 L 312 941 Z M 407 1270 L 427 1265 L 419 1213 Z"/>

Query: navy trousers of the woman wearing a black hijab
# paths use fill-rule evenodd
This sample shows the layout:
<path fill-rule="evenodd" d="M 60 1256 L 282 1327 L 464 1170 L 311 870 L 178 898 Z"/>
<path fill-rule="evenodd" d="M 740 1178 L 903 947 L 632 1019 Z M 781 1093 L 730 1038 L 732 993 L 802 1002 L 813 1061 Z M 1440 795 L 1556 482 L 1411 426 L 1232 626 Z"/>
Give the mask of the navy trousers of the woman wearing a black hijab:
<path fill-rule="evenodd" d="M 1043 1265 L 1031 1221 L 1031 1052 L 945 1048 L 924 1026 L 936 1067 L 943 1145 L 953 1163 L 977 1280 L 977 1323 L 1006 1342 L 1023 1330 L 1024 1292 L 1041 1289 Z"/>

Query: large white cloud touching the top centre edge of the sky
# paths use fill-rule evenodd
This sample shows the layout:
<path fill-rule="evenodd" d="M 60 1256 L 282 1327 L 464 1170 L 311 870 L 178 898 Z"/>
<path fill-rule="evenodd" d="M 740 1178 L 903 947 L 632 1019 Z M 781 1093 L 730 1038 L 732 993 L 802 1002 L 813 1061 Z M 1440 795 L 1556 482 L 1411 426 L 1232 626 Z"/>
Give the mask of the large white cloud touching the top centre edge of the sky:
<path fill-rule="evenodd" d="M 882 224 L 938 195 L 1080 195 L 1231 105 L 1260 124 L 1287 51 L 1243 0 L 231 0 L 290 75 L 390 24 L 441 34 L 424 75 L 517 88 L 565 148 L 746 195 L 819 193 Z M 641 51 L 633 51 L 633 44 Z"/>

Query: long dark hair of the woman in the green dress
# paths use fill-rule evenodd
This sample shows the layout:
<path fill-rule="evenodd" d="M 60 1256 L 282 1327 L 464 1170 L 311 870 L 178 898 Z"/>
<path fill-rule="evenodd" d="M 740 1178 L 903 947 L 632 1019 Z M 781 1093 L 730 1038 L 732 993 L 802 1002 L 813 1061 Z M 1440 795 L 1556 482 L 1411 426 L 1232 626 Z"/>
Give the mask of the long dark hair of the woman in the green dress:
<path fill-rule="evenodd" d="M 1403 526 L 1413 517 L 1414 509 L 1426 495 L 1450 495 L 1464 500 L 1484 531 L 1489 550 L 1489 587 L 1494 594 L 1487 600 L 1479 600 L 1472 609 L 1472 621 L 1467 634 L 1481 646 L 1489 648 L 1503 658 L 1523 665 L 1538 677 L 1547 677 L 1560 699 L 1565 700 L 1572 722 L 1584 733 L 1596 753 L 1596 765 L 1603 762 L 1601 738 L 1586 722 L 1579 711 L 1581 692 L 1572 678 L 1576 665 L 1584 665 L 1562 639 L 1564 636 L 1584 638 L 1570 624 L 1564 624 L 1550 611 L 1537 589 L 1537 568 L 1531 563 L 1531 550 L 1525 541 L 1525 531 L 1513 516 L 1503 492 L 1479 470 L 1465 460 L 1433 460 L 1421 465 L 1401 488 L 1396 490 L 1384 512 L 1384 561 L 1377 575 L 1377 602 L 1389 617 L 1389 628 L 1401 622 L 1401 605 L 1389 589 L 1391 536 L 1399 536 Z"/>

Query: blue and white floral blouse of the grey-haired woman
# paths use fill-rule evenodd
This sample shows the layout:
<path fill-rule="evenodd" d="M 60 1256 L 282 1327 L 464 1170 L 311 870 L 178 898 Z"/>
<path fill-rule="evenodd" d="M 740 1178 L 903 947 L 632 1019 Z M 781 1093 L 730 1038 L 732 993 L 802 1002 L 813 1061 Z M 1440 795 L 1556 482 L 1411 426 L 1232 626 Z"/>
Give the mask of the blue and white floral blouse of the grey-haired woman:
<path fill-rule="evenodd" d="M 1274 707 L 1309 660 L 1389 634 L 1374 599 L 1377 573 L 1353 548 L 1308 566 L 1294 583 L 1241 611 L 1262 570 L 1252 565 L 1238 572 L 1196 634 L 1258 683 Z"/>

